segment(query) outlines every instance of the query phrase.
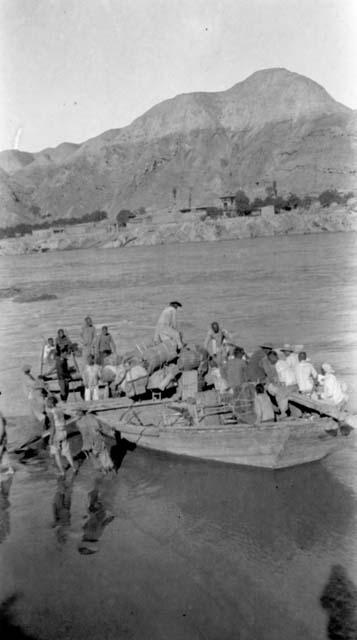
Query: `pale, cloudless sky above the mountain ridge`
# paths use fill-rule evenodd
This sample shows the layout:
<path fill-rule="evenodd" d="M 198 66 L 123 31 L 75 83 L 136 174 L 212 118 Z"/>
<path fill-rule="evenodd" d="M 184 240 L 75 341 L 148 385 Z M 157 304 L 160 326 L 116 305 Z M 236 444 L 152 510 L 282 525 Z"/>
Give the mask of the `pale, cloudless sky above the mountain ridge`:
<path fill-rule="evenodd" d="M 357 109 L 357 0 L 0 0 L 0 150 L 83 142 L 285 67 Z"/>

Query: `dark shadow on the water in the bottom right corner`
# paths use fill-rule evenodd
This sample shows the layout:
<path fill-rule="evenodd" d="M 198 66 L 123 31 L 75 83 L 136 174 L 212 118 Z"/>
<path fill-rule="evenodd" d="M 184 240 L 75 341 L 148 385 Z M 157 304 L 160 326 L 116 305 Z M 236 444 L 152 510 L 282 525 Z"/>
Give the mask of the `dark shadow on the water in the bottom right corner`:
<path fill-rule="evenodd" d="M 330 640 L 356 640 L 357 588 L 341 565 L 334 565 L 320 598 L 328 614 Z"/>

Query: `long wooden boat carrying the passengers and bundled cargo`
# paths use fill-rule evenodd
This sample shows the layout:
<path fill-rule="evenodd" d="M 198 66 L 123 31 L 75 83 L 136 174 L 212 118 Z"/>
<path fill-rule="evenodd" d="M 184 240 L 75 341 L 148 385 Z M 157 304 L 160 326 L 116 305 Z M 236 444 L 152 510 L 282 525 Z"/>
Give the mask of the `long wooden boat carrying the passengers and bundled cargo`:
<path fill-rule="evenodd" d="M 350 427 L 318 413 L 278 422 L 239 421 L 224 401 L 113 398 L 73 402 L 66 411 L 93 413 L 106 436 L 120 435 L 146 449 L 237 465 L 281 469 L 320 460 L 348 446 Z M 201 396 L 201 397 L 200 397 Z"/>

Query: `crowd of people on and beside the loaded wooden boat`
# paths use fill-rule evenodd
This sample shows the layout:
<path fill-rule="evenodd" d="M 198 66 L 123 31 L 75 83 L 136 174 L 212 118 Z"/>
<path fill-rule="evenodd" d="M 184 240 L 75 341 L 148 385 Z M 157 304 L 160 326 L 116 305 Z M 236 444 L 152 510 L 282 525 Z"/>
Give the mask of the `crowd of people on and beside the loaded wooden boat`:
<path fill-rule="evenodd" d="M 171 345 L 177 353 L 178 364 L 185 355 L 194 354 L 198 374 L 198 390 L 215 388 L 221 394 L 239 393 L 246 385 L 254 389 L 254 410 L 256 421 L 264 422 L 289 415 L 289 396 L 304 394 L 308 398 L 337 408 L 343 408 L 348 396 L 346 386 L 335 375 L 328 363 L 317 371 L 304 350 L 303 345 L 284 344 L 274 346 L 269 342 L 261 344 L 253 353 L 235 344 L 232 336 L 217 321 L 210 325 L 203 346 L 188 345 L 180 331 L 177 312 L 182 308 L 178 301 L 170 302 L 157 321 L 154 345 Z M 64 414 L 57 406 L 57 399 L 49 392 L 47 381 L 55 376 L 58 381 L 60 398 L 67 401 L 70 382 L 74 379 L 83 386 L 85 401 L 99 400 L 100 386 L 104 397 L 125 394 L 125 381 L 133 380 L 133 372 L 145 376 L 143 363 L 117 353 L 116 344 L 104 325 L 99 334 L 90 316 L 84 320 L 80 331 L 80 345 L 73 343 L 63 329 L 59 329 L 56 339 L 48 338 L 43 349 L 41 375 L 33 376 L 31 367 L 24 365 L 24 388 L 33 414 L 51 432 L 51 451 L 60 468 L 59 453 L 72 466 L 70 452 L 66 444 Z M 81 366 L 77 358 L 81 354 Z M 70 364 L 71 359 L 71 364 Z M 173 373 L 172 373 L 173 372 Z M 166 372 L 167 383 L 180 377 L 176 365 Z M 109 377 L 108 377 L 109 374 Z M 178 395 L 179 398 L 179 385 Z"/>

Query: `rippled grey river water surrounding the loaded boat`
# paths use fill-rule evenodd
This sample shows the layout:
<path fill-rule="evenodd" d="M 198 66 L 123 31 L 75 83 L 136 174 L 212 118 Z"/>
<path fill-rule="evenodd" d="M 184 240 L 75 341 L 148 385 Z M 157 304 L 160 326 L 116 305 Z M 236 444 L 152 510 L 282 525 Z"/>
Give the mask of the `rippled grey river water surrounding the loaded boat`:
<path fill-rule="evenodd" d="M 1 288 L 57 296 L 0 301 L 10 443 L 33 428 L 21 366 L 39 368 L 44 337 L 63 327 L 76 340 L 90 313 L 125 350 L 175 299 L 188 338 L 217 319 L 247 350 L 304 344 L 346 380 L 356 411 L 356 246 L 319 234 L 1 257 Z M 40 639 L 326 638 L 332 567 L 357 582 L 356 463 L 352 438 L 276 472 L 140 449 L 104 479 L 90 462 L 66 482 L 45 461 L 20 466 L 0 496 L 0 617 Z"/>

